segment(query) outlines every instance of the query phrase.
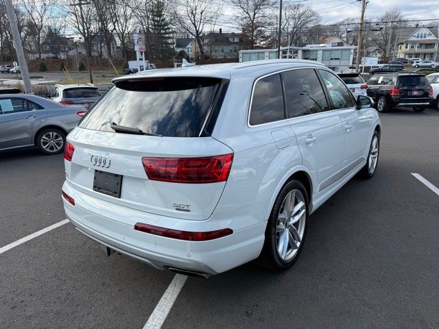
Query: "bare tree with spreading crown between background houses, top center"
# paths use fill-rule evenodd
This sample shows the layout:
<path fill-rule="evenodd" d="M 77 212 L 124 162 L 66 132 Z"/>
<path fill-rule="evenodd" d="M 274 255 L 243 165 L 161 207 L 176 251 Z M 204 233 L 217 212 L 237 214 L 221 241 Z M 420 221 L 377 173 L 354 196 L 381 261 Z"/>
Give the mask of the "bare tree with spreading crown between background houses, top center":
<path fill-rule="evenodd" d="M 182 0 L 174 5 L 174 20 L 195 38 L 201 57 L 204 57 L 202 34 L 215 25 L 221 12 L 222 5 L 206 0 Z"/>

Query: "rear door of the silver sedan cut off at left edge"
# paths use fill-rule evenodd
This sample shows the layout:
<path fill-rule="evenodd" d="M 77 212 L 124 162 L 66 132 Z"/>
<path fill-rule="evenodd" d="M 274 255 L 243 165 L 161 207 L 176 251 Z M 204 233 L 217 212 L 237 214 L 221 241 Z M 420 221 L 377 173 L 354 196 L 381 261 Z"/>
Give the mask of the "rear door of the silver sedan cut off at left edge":
<path fill-rule="evenodd" d="M 36 127 L 47 111 L 24 97 L 0 97 L 0 149 L 33 145 Z"/>

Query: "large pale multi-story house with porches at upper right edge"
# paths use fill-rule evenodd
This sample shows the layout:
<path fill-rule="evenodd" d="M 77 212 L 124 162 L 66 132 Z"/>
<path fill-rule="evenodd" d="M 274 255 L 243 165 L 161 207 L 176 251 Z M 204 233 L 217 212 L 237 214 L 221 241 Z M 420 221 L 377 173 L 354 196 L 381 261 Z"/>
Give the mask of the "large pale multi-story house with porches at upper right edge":
<path fill-rule="evenodd" d="M 397 57 L 439 60 L 439 25 L 401 27 L 397 31 Z"/>

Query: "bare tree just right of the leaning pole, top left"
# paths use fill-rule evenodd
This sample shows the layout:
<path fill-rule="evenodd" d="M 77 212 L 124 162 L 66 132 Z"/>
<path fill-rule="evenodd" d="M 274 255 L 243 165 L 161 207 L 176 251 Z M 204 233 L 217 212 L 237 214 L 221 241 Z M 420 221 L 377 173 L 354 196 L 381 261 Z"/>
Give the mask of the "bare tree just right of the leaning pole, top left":
<path fill-rule="evenodd" d="M 32 26 L 32 32 L 34 32 L 36 39 L 36 49 L 38 51 L 38 58 L 41 62 L 41 41 L 43 38 L 43 31 L 49 16 L 51 16 L 51 0 L 45 0 L 40 3 L 38 0 L 25 0 L 23 1 L 23 8 L 27 13 L 27 18 Z"/>

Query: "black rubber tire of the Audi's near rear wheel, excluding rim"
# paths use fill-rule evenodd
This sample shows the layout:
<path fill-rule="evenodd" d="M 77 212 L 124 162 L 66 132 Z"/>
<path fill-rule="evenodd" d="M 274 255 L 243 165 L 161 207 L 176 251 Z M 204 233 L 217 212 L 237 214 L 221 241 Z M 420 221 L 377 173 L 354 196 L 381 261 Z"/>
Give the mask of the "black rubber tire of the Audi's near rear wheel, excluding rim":
<path fill-rule="evenodd" d="M 289 192 L 293 190 L 298 190 L 302 193 L 305 201 L 305 228 L 303 231 L 302 239 L 300 244 L 298 245 L 298 249 L 296 249 L 295 254 L 291 259 L 285 261 L 278 255 L 277 247 L 276 247 L 276 226 L 278 221 L 278 214 L 283 206 L 283 201 Z M 309 216 L 309 198 L 307 194 L 307 190 L 305 186 L 303 186 L 302 182 L 299 180 L 290 180 L 287 182 L 281 191 L 279 192 L 276 202 L 274 202 L 274 206 L 272 208 L 272 212 L 270 214 L 270 218 L 268 219 L 267 228 L 265 229 L 265 241 L 263 243 L 262 252 L 257 259 L 257 264 L 261 265 L 267 269 L 272 269 L 274 271 L 285 271 L 292 267 L 292 265 L 296 262 L 300 252 L 302 251 L 303 244 L 305 243 L 305 236 L 307 232 L 307 221 Z"/>

